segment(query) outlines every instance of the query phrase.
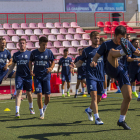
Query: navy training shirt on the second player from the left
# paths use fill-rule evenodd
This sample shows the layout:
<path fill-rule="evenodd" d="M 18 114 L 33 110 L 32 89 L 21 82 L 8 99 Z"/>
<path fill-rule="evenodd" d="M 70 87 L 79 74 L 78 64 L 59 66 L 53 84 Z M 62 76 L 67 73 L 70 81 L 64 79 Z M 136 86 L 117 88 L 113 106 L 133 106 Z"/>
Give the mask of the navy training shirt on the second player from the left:
<path fill-rule="evenodd" d="M 13 62 L 17 63 L 16 76 L 22 78 L 31 79 L 30 69 L 29 69 L 29 60 L 30 60 L 30 51 L 25 52 L 16 52 L 13 55 Z"/>

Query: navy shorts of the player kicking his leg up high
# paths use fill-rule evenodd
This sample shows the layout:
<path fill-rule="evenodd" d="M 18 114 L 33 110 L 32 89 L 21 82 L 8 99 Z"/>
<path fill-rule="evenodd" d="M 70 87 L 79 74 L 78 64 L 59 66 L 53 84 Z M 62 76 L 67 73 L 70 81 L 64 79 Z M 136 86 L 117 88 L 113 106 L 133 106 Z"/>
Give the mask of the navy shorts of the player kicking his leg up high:
<path fill-rule="evenodd" d="M 107 61 L 105 66 L 105 72 L 108 76 L 118 81 L 120 89 L 123 85 L 130 85 L 128 71 L 122 69 L 120 66 L 115 68 Z"/>

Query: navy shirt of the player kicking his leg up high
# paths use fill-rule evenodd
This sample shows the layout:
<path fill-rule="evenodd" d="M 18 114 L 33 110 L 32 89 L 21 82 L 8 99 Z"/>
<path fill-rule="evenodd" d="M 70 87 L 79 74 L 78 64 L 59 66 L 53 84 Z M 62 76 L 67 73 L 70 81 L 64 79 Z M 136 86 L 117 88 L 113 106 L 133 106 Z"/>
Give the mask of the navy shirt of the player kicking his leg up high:
<path fill-rule="evenodd" d="M 132 51 L 132 53 L 134 53 L 136 51 L 136 48 L 128 41 L 128 47 L 129 49 Z M 104 63 L 105 63 L 105 66 L 106 66 L 106 62 L 107 62 L 107 57 L 108 57 L 108 53 L 110 51 L 110 49 L 115 49 L 115 50 L 121 50 L 122 49 L 122 46 L 121 45 L 116 45 L 113 40 L 108 40 L 108 41 L 105 41 L 100 49 L 97 51 L 97 53 L 101 56 L 104 57 Z M 127 70 L 127 59 L 126 59 L 126 55 L 125 56 L 121 56 L 118 58 L 118 63 L 119 63 L 119 66 L 124 69 L 126 68 Z"/>

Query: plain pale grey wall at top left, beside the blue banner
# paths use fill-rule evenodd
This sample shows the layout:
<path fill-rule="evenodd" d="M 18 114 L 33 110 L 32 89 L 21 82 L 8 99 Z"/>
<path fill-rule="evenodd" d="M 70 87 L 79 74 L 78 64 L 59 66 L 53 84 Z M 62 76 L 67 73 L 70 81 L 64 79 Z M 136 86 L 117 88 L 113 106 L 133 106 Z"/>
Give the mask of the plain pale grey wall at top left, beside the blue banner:
<path fill-rule="evenodd" d="M 63 0 L 42 0 L 36 2 L 0 2 L 0 13 L 63 12 Z"/>

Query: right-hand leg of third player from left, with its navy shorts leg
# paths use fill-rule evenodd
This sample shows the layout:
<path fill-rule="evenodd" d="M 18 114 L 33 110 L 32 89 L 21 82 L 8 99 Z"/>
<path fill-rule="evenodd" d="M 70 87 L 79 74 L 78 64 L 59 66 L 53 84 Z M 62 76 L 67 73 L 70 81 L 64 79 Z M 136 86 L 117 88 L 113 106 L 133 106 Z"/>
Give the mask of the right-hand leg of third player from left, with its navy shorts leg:
<path fill-rule="evenodd" d="M 43 112 L 45 115 L 45 111 L 47 109 L 47 106 L 50 102 L 50 94 L 51 94 L 51 89 L 50 89 L 50 80 L 43 81 L 43 94 L 45 95 L 44 99 L 44 106 L 43 106 Z"/>

